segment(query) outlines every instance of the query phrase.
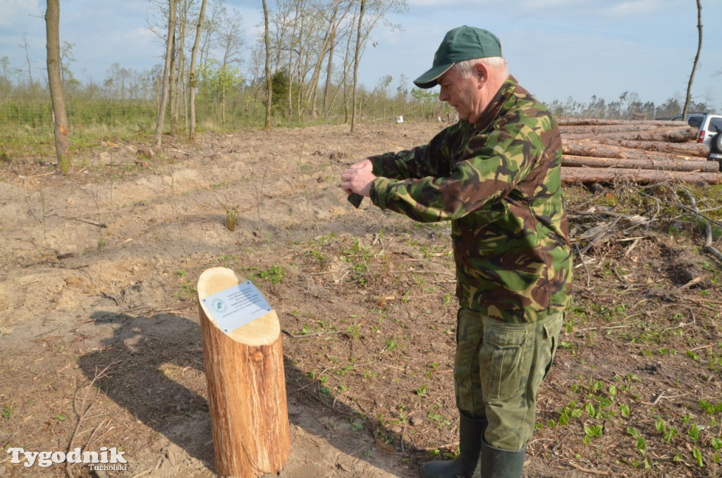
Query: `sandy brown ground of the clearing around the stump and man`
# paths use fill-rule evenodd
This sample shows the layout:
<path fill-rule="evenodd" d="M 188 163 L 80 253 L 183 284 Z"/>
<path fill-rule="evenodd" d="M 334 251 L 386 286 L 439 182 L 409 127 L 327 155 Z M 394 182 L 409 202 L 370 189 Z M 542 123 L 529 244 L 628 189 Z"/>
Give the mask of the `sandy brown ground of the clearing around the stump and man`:
<path fill-rule="evenodd" d="M 253 280 L 282 324 L 292 456 L 280 477 L 412 477 L 430 451 L 453 453 L 456 305 L 448 226 L 414 225 L 368 201 L 354 209 L 337 187 L 347 163 L 426 142 L 440 127 L 204 134 L 191 144 L 168 144 L 155 157 L 139 153 L 136 144 L 104 143 L 76 157 L 79 170 L 69 177 L 53 172 L 51 158 L 5 163 L 0 442 L 28 451 L 115 446 L 129 464 L 103 475 L 81 464 L 26 468 L 0 456 L 0 475 L 215 476 L 194 290 L 212 266 Z M 600 217 L 609 219 L 590 209 L 604 194 L 576 186 L 571 212 L 577 236 L 599 225 Z M 230 231 L 226 212 L 233 208 L 238 227 Z M 565 335 L 570 347 L 560 350 L 542 391 L 541 424 L 558 418 L 570 400 L 570 383 L 582 373 L 604 381 L 645 370 L 663 374 L 662 388 L 654 378 L 640 378 L 651 387 L 638 391 L 640 401 L 685 389 L 722 401 L 717 371 L 680 381 L 693 366 L 684 357 L 691 345 L 678 344 L 674 357 L 648 356 L 629 337 L 614 336 L 612 343 L 602 333 L 602 327 L 625 325 L 590 304 L 612 310 L 620 295 L 633 292 L 646 305 L 628 298 L 625 317 L 666 321 L 660 328 L 674 329 L 693 320 L 674 313 L 695 308 L 695 338 L 708 339 L 697 347 L 718 347 L 716 305 L 666 305 L 679 304 L 684 294 L 698 300 L 694 287 L 700 285 L 708 303 L 721 301 L 702 265 L 709 258 L 689 256 L 694 235 L 637 236 L 647 239 L 628 255 L 620 247 L 635 235 L 629 242 L 601 240 L 587 252 L 596 255 L 577 269 L 575 291 L 588 322 L 577 319 L 575 331 Z M 610 269 L 611 263 L 624 270 Z M 679 279 L 683 273 L 690 276 L 686 281 Z M 645 295 L 649 290 L 658 295 Z M 599 333 L 591 336 L 591 328 Z M 658 365 L 668 359 L 669 365 Z M 597 365 L 593 372 L 591 364 Z M 697 372 L 689 381 L 692 375 Z M 669 407 L 682 407 L 682 400 Z M 666 402 L 658 399 L 660 407 Z M 608 428 L 612 443 L 622 440 L 623 428 Z M 564 435 L 541 427 L 530 444 L 530 477 L 591 476 L 589 470 L 656 476 L 620 468 L 619 455 L 628 463 L 633 450 L 602 459 L 593 447 L 560 448 Z M 670 468 L 657 471 L 703 476 L 689 463 L 675 468 L 669 456 L 658 461 Z"/>

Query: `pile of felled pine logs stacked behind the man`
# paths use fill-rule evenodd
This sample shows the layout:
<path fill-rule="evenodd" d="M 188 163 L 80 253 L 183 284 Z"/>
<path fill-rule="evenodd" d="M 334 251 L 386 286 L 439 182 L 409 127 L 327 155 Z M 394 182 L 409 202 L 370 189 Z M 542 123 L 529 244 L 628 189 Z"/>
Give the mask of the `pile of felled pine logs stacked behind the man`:
<path fill-rule="evenodd" d="M 697 130 L 679 121 L 560 118 L 564 183 L 722 184 L 722 162 L 706 160 Z"/>

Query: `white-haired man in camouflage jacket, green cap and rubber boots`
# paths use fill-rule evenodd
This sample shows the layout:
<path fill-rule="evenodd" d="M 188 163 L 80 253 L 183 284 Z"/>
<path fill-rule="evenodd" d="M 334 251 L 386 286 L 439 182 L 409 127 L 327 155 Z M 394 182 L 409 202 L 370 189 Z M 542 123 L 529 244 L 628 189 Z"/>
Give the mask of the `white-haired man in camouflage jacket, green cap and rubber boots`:
<path fill-rule="evenodd" d="M 424 146 L 355 163 L 341 186 L 419 222 L 451 221 L 459 454 L 421 476 L 518 478 L 572 292 L 559 129 L 487 30 L 448 32 L 414 83 L 439 84 L 461 121 Z"/>

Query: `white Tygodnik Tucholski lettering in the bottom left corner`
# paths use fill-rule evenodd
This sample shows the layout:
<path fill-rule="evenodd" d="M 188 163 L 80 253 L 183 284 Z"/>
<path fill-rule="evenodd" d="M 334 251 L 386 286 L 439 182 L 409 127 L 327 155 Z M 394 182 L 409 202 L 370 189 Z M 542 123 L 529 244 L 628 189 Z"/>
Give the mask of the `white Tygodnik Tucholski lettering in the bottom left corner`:
<path fill-rule="evenodd" d="M 106 448 L 105 446 L 101 446 L 100 452 L 81 451 L 80 448 L 74 448 L 68 453 L 64 451 L 25 451 L 24 448 L 14 447 L 8 448 L 7 452 L 12 455 L 10 457 L 10 463 L 22 463 L 20 459 L 20 454 L 22 453 L 22 455 L 25 456 L 23 466 L 27 467 L 37 464 L 44 468 L 52 464 L 68 462 L 85 463 L 88 464 L 91 470 L 103 472 L 124 472 L 128 470 L 128 461 L 123 458 L 123 454 L 126 452 L 118 451 L 116 447 Z"/>

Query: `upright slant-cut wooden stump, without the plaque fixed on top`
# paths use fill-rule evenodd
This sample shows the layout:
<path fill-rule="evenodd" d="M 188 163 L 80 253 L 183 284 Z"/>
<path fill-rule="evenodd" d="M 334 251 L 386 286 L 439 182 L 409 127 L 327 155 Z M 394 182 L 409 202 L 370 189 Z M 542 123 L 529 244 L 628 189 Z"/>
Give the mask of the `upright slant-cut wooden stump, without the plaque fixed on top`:
<path fill-rule="evenodd" d="M 203 301 L 243 282 L 230 269 L 207 269 L 198 296 L 217 471 L 253 478 L 279 472 L 291 453 L 278 317 L 270 310 L 226 334 Z"/>

